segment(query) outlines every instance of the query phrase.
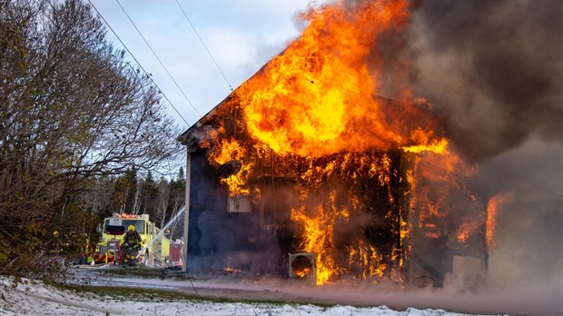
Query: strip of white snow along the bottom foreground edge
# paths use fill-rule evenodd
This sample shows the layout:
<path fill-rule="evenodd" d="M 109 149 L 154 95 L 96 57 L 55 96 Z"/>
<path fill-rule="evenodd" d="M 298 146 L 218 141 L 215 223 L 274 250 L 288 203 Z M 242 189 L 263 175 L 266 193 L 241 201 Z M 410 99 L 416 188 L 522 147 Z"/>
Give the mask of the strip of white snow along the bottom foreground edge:
<path fill-rule="evenodd" d="M 123 297 L 67 291 L 41 281 L 0 277 L 2 315 L 463 315 L 442 310 L 393 311 L 385 306 L 321 307 L 311 304 L 215 302 L 202 300 L 133 301 Z"/>

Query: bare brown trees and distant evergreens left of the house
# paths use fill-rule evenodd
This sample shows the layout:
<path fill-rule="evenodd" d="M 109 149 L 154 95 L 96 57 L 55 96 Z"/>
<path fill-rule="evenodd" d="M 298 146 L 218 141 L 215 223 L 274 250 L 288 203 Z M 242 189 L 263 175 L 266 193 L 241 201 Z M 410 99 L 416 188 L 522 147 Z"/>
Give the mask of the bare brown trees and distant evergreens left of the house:
<path fill-rule="evenodd" d="M 82 0 L 0 0 L 0 272 L 41 275 L 53 232 L 177 210 L 150 173 L 183 151 L 165 105 Z"/>

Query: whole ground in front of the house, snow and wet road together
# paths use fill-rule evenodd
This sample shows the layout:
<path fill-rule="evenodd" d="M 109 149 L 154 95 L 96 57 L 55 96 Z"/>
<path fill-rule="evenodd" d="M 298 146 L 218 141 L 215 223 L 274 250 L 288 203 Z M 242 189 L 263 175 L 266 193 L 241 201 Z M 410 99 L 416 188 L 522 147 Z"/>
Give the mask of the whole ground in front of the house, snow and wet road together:
<path fill-rule="evenodd" d="M 74 267 L 67 284 L 97 294 L 0 276 L 0 315 L 563 315 L 560 274 L 470 290 L 453 281 L 440 289 L 358 281 L 315 286 L 168 270 L 142 277 L 143 270 L 114 269 L 120 268 Z"/>

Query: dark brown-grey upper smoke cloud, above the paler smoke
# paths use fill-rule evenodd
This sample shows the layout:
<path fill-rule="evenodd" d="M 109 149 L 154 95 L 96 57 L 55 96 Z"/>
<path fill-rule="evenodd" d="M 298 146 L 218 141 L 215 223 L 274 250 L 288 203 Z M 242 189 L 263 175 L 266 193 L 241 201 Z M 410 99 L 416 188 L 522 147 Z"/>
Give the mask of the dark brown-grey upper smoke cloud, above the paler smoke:
<path fill-rule="evenodd" d="M 471 161 L 530 136 L 561 143 L 562 34 L 559 0 L 420 2 L 407 35 L 415 95 Z"/>

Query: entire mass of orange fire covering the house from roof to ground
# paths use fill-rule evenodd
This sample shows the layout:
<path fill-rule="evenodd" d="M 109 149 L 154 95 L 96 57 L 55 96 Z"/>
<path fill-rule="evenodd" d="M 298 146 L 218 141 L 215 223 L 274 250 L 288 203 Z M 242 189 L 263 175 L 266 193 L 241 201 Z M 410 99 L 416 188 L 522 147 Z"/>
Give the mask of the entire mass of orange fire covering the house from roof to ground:
<path fill-rule="evenodd" d="M 409 23 L 408 3 L 339 1 L 311 8 L 301 15 L 309 21 L 301 37 L 215 112 L 222 122 L 215 124 L 214 144 L 205 144 L 210 163 L 242 162 L 239 174 L 222 180 L 230 194 L 257 190 L 252 179 L 270 179 L 273 191 L 276 172 L 291 178 L 297 196 L 287 202 L 291 221 L 301 227 L 301 250 L 317 254 L 318 284 L 346 272 L 400 280 L 411 228 L 443 240 L 455 206 L 450 200 L 459 192 L 479 209 L 460 181 L 475 170 L 452 152 L 430 112 L 419 106 L 426 101 L 411 100 L 408 89 L 394 95 L 400 101 L 376 96 L 386 62 L 377 54 L 380 38 L 400 34 Z M 234 133 L 226 133 L 229 124 Z M 237 141 L 234 134 L 246 138 Z M 335 240 L 338 223 L 356 224 L 355 235 Z M 470 222 L 462 226 L 459 242 L 479 231 Z M 378 249 L 376 242 L 384 246 Z"/>

